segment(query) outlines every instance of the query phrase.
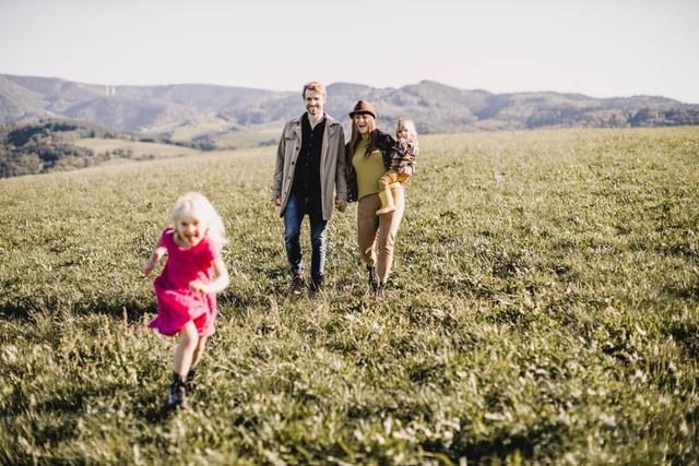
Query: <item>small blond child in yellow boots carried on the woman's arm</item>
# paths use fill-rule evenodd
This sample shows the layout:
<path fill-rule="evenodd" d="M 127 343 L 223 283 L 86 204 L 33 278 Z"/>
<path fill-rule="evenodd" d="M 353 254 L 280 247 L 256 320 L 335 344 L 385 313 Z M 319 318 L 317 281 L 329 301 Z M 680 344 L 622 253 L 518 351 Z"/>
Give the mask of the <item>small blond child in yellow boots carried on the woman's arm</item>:
<path fill-rule="evenodd" d="M 418 147 L 417 131 L 413 120 L 399 118 L 395 122 L 395 138 L 398 138 L 398 145 L 394 147 L 391 168 L 379 178 L 381 208 L 376 211 L 377 215 L 395 211 L 390 186 L 395 182 L 404 183 L 415 170 Z"/>

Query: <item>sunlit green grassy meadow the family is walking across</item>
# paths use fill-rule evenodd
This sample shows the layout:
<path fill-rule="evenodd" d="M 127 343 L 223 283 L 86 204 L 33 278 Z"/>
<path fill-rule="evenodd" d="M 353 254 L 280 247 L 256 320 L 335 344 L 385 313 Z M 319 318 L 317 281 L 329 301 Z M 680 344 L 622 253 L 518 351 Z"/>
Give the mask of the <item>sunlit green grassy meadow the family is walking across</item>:
<path fill-rule="evenodd" d="M 699 464 L 699 128 L 422 136 L 382 301 L 356 204 L 285 294 L 274 152 L 0 180 L 0 464 Z M 232 282 L 171 413 L 141 266 L 186 191 Z"/>

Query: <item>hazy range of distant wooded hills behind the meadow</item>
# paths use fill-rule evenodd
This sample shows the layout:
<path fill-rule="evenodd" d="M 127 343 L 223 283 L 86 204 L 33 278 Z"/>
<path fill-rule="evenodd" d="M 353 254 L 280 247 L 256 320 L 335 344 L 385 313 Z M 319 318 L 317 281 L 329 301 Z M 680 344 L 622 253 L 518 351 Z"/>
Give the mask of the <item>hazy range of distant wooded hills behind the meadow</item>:
<path fill-rule="evenodd" d="M 664 97 L 491 94 L 431 81 L 400 88 L 331 84 L 325 110 L 348 129 L 347 112 L 359 99 L 371 101 L 379 113 L 379 128 L 389 132 L 402 116 L 415 120 L 420 133 L 699 124 L 699 105 Z M 105 86 L 0 74 L 0 122 L 67 118 L 173 141 L 217 141 L 241 132 L 269 138 L 286 119 L 303 111 L 300 85 L 299 92 L 204 84 Z"/>

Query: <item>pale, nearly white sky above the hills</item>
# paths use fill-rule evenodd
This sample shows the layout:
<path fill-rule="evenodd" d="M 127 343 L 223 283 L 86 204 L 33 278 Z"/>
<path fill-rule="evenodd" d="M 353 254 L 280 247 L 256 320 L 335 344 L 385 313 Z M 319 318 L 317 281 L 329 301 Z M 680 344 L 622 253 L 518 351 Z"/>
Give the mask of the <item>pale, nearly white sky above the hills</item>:
<path fill-rule="evenodd" d="M 0 74 L 699 104 L 699 0 L 0 0 Z"/>

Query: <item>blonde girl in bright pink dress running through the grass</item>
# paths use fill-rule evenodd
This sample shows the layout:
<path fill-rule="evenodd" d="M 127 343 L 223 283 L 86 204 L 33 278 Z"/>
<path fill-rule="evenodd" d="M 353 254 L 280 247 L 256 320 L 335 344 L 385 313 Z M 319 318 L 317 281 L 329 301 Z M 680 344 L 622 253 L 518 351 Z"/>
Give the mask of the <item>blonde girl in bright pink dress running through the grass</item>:
<path fill-rule="evenodd" d="M 157 316 L 149 327 L 168 336 L 179 334 L 167 406 L 185 408 L 187 387 L 206 337 L 214 334 L 216 292 L 228 286 L 228 271 L 221 256 L 221 247 L 228 241 L 221 216 L 202 194 L 189 192 L 179 198 L 170 220 L 171 227 L 161 235 L 143 272 L 150 274 L 167 253 L 163 273 L 153 283 Z"/>

